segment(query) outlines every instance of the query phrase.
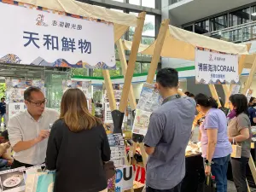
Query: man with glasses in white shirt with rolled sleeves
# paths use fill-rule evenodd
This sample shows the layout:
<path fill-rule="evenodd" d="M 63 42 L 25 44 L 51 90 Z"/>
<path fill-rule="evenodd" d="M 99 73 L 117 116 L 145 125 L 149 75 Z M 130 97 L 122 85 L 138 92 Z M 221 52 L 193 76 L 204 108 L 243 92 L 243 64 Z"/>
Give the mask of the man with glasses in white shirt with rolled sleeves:
<path fill-rule="evenodd" d="M 59 113 L 45 108 L 46 98 L 37 87 L 24 92 L 27 110 L 9 119 L 9 141 L 15 151 L 12 169 L 37 166 L 44 163 L 50 126 L 59 119 Z"/>

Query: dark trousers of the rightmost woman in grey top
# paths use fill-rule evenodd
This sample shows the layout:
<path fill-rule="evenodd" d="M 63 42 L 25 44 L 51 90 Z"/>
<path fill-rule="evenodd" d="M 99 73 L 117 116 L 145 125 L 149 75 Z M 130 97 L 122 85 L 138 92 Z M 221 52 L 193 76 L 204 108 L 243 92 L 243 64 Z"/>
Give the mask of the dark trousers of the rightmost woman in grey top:
<path fill-rule="evenodd" d="M 249 158 L 232 158 L 231 166 L 237 192 L 247 192 L 247 164 Z"/>

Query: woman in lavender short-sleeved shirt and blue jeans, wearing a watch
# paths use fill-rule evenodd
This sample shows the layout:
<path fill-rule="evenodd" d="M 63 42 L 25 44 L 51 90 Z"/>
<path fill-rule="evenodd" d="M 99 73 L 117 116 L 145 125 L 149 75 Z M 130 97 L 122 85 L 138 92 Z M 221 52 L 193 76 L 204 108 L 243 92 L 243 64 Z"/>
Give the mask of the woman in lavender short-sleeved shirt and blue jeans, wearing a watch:
<path fill-rule="evenodd" d="M 215 177 L 218 192 L 227 192 L 227 171 L 232 153 L 227 135 L 227 119 L 218 103 L 204 94 L 195 96 L 197 110 L 206 114 L 201 124 L 201 150 L 205 172 Z"/>

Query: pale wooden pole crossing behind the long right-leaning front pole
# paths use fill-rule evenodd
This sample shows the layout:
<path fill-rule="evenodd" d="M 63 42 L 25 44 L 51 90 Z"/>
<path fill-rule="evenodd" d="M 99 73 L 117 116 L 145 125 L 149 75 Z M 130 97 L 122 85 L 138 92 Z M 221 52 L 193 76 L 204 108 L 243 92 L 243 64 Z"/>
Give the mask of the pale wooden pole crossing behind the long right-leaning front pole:
<path fill-rule="evenodd" d="M 126 61 L 126 57 L 125 57 L 125 49 L 124 49 L 124 45 L 122 43 L 122 39 L 119 39 L 116 42 L 116 45 L 117 45 L 118 52 L 119 52 L 119 60 L 121 62 L 122 73 L 124 74 L 124 77 L 125 77 L 125 74 L 126 74 L 126 71 L 127 71 L 127 61 Z M 136 98 L 134 96 L 134 91 L 133 91 L 132 84 L 131 84 L 131 87 L 130 87 L 128 98 L 129 98 L 129 102 L 130 102 L 130 105 L 131 105 L 131 109 L 135 110 L 137 108 L 137 103 L 136 103 Z"/>

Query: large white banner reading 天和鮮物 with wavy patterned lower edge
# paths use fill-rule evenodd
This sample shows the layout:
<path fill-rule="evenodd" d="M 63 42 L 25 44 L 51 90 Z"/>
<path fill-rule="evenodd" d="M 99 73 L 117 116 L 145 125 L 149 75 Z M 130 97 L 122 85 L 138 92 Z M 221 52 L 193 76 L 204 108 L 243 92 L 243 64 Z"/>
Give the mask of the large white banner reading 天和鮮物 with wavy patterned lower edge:
<path fill-rule="evenodd" d="M 115 69 L 113 23 L 13 1 L 0 2 L 0 23 L 1 62 Z"/>

